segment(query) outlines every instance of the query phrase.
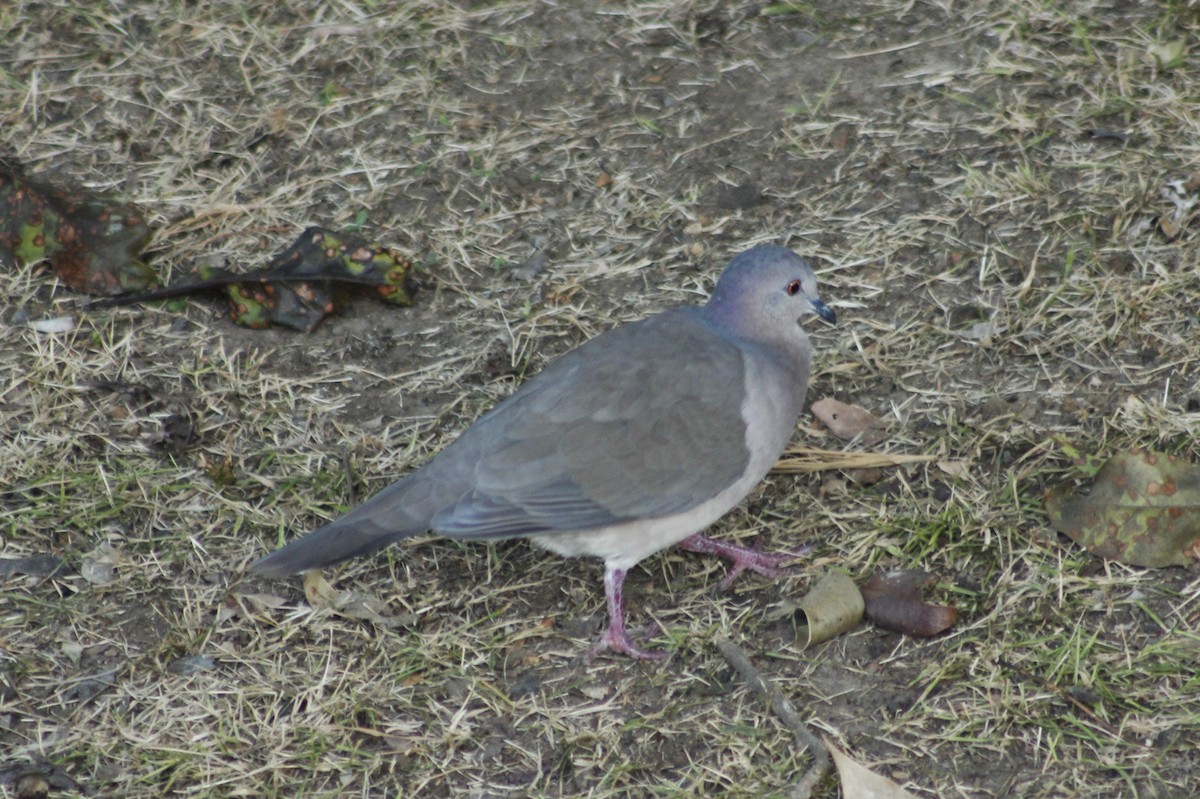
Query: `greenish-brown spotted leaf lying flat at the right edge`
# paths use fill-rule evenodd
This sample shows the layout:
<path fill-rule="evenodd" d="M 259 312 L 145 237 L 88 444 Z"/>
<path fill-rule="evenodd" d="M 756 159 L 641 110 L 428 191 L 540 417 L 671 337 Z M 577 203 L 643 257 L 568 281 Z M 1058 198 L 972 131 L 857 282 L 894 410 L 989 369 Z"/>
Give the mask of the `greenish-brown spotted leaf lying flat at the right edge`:
<path fill-rule="evenodd" d="M 1175 455 L 1114 456 L 1091 489 L 1046 492 L 1056 530 L 1088 552 L 1133 566 L 1186 566 L 1200 559 L 1200 470 Z"/>

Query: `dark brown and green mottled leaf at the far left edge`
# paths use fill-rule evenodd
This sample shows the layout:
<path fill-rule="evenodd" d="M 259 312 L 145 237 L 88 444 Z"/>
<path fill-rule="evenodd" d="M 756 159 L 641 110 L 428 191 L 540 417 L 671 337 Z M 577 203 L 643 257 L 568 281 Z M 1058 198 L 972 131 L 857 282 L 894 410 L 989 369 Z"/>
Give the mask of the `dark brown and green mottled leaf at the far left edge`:
<path fill-rule="evenodd" d="M 140 292 L 158 282 L 140 259 L 150 235 L 137 205 L 26 175 L 0 158 L 0 258 L 24 266 L 46 260 L 78 292 Z"/>

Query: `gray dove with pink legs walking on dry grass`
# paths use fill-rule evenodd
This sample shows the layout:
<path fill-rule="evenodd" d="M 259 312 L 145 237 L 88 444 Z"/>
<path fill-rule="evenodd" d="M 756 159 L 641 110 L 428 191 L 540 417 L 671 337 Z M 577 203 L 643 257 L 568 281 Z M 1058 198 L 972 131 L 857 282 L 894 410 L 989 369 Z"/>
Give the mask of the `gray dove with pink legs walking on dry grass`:
<path fill-rule="evenodd" d="M 625 630 L 622 585 L 643 558 L 680 545 L 781 573 L 791 554 L 706 537 L 767 475 L 804 403 L 817 296 L 808 262 L 761 245 L 734 258 L 702 307 L 614 328 L 548 365 L 425 465 L 253 565 L 270 577 L 371 554 L 433 530 L 526 537 L 605 561 L 608 627 L 588 657 L 666 653 Z"/>

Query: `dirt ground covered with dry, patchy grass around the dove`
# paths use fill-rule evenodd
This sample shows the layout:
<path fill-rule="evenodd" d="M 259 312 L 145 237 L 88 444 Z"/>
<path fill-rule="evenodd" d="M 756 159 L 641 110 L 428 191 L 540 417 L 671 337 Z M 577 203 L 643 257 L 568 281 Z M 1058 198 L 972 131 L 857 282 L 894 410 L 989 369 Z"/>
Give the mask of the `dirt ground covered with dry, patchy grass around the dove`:
<path fill-rule="evenodd" d="M 311 335 L 2 264 L 0 555 L 62 569 L 0 582 L 0 797 L 787 795 L 718 636 L 916 795 L 1195 795 L 1196 570 L 1042 497 L 1064 443 L 1200 461 L 1198 36 L 1195 0 L 0 2 L 0 151 L 142 204 L 164 277 L 308 224 L 418 260 L 412 308 Z M 247 571 L 762 241 L 838 311 L 810 401 L 935 459 L 772 476 L 713 534 L 808 547 L 784 579 L 643 563 L 666 662 L 584 663 L 599 565 L 523 542 L 353 563 L 341 612 Z M 790 600 L 894 567 L 958 626 L 800 649 Z"/>

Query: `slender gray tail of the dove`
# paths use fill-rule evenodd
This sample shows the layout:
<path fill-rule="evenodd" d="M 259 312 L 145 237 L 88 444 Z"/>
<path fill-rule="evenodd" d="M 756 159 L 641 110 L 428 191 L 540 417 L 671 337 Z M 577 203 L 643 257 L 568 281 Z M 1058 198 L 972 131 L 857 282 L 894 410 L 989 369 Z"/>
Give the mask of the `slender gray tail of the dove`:
<path fill-rule="evenodd" d="M 334 519 L 281 549 L 254 561 L 251 569 L 264 577 L 292 575 L 332 566 L 368 555 L 428 529 L 428 521 L 414 517 L 408 507 L 408 481 L 385 488 L 353 511 Z"/>

